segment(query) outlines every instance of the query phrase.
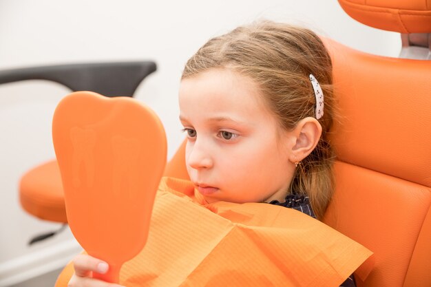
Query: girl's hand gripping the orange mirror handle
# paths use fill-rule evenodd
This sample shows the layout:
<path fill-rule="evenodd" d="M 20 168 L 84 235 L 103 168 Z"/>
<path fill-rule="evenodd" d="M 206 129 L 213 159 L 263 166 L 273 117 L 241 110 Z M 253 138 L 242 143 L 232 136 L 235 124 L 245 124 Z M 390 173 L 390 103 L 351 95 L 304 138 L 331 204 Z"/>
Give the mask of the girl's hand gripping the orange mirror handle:
<path fill-rule="evenodd" d="M 81 254 L 72 260 L 75 273 L 70 278 L 67 287 L 123 287 L 91 277 L 93 272 L 105 274 L 109 268 L 106 262 L 90 255 Z"/>

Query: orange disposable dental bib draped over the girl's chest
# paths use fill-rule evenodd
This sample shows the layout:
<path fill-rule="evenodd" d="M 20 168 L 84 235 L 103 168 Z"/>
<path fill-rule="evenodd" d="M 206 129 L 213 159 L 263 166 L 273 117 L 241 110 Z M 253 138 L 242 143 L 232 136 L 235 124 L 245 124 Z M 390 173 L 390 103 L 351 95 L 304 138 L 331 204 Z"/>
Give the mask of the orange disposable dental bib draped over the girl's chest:
<path fill-rule="evenodd" d="M 339 286 L 371 255 L 299 211 L 260 203 L 200 205 L 191 182 L 163 178 L 147 244 L 123 265 L 120 284 Z M 67 285 L 70 271 L 56 286 Z"/>

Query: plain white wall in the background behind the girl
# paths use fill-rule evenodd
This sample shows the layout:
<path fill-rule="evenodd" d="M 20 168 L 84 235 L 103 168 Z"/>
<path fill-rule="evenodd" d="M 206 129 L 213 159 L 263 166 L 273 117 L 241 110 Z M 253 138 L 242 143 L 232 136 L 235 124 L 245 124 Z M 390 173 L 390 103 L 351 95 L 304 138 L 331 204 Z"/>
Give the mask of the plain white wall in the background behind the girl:
<path fill-rule="evenodd" d="M 140 85 L 136 98 L 162 119 L 171 156 L 183 137 L 176 96 L 185 61 L 209 37 L 260 18 L 302 23 L 365 52 L 397 56 L 401 47 L 399 34 L 357 23 L 335 0 L 2 0 L 0 70 L 59 63 L 156 61 L 158 71 Z M 54 158 L 50 121 L 56 103 L 67 93 L 65 87 L 45 81 L 0 86 L 0 286 L 54 268 L 47 263 L 54 262 L 56 250 L 62 250 L 63 257 L 67 257 L 65 251 L 78 250 L 70 232 L 26 246 L 32 235 L 58 224 L 27 215 L 19 206 L 17 192 L 25 171 Z M 35 271 L 34 266 L 47 267 Z"/>

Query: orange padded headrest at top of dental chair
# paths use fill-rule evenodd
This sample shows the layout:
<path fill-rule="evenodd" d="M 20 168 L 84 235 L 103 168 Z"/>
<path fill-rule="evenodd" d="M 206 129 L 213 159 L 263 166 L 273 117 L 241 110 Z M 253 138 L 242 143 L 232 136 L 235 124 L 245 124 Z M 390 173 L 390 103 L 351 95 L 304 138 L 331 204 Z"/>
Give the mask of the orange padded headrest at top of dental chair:
<path fill-rule="evenodd" d="M 353 19 L 399 33 L 431 33 L 430 0 L 338 0 Z"/>

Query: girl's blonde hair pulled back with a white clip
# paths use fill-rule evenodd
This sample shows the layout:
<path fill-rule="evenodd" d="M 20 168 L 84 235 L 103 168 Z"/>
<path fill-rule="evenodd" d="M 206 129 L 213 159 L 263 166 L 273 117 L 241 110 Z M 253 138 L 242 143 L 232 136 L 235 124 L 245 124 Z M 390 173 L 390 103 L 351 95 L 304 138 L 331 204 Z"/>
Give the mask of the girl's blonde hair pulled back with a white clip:
<path fill-rule="evenodd" d="M 315 117 L 313 74 L 324 92 L 322 138 L 295 170 L 290 193 L 308 196 L 321 219 L 334 189 L 333 149 L 328 131 L 333 123 L 333 78 L 330 56 L 319 37 L 306 28 L 261 21 L 216 36 L 187 61 L 182 78 L 211 68 L 229 68 L 253 79 L 280 125 L 295 128 L 299 120 Z"/>

